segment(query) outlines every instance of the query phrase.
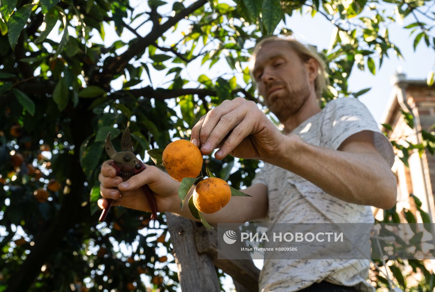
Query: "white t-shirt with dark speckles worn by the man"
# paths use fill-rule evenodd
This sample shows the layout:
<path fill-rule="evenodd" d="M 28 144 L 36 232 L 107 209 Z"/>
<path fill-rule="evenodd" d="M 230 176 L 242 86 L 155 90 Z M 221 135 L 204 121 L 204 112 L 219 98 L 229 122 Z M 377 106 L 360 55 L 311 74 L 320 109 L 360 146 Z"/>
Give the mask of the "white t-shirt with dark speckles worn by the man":
<path fill-rule="evenodd" d="M 306 143 L 338 149 L 349 136 L 373 131 L 376 149 L 390 167 L 394 152 L 388 138 L 367 107 L 355 98 L 339 98 L 327 103 L 291 133 Z M 286 169 L 264 163 L 252 185 L 268 187 L 268 214 L 265 223 L 373 223 L 370 206 L 342 201 Z M 374 292 L 367 281 L 368 259 L 265 259 L 260 273 L 259 291 L 293 292 L 325 280 L 337 285 L 355 286 L 361 292 Z"/>

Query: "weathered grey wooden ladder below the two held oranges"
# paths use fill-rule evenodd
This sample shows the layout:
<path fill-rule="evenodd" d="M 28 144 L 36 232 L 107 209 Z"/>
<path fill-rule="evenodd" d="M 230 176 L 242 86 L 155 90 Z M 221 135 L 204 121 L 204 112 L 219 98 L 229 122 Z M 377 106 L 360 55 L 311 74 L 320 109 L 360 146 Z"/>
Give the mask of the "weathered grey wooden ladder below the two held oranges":
<path fill-rule="evenodd" d="M 218 259 L 218 232 L 215 229 L 207 229 L 200 222 L 173 213 L 165 212 L 165 215 L 181 291 L 220 292 L 217 267 L 233 278 L 237 292 L 258 292 L 260 270 L 250 257 Z"/>

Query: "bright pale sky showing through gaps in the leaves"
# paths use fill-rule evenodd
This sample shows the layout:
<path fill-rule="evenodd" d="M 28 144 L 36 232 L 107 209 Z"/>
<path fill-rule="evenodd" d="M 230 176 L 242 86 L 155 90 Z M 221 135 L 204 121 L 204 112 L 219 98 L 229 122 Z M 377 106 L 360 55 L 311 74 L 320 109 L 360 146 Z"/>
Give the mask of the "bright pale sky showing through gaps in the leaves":
<path fill-rule="evenodd" d="M 167 1 L 170 4 L 164 5 L 159 8 L 159 12 L 166 12 L 164 14 L 169 15 L 170 10 L 172 7 L 173 0 Z M 226 2 L 234 5 L 234 2 L 232 1 L 219 1 L 219 2 Z M 191 1 L 189 2 L 191 3 Z M 187 4 L 185 4 L 186 6 Z M 144 1 L 139 0 L 133 0 L 131 1 L 131 6 L 136 8 L 134 13 L 137 15 L 138 13 L 148 11 L 149 8 L 145 4 Z M 391 14 L 393 13 L 392 6 L 385 6 L 387 11 L 390 11 Z M 426 7 L 423 7 L 423 11 Z M 427 19 L 424 19 L 424 17 L 420 17 L 419 19 L 421 21 L 429 22 Z M 128 22 L 127 19 L 124 19 Z M 137 20 L 135 20 L 133 23 L 131 23 L 131 27 L 136 28 L 144 18 L 139 17 Z M 164 20 L 163 20 L 164 21 Z M 381 120 L 382 114 L 385 111 L 385 105 L 387 103 L 387 100 L 389 99 L 389 96 L 392 91 L 392 86 L 389 82 L 390 77 L 394 75 L 397 71 L 405 73 L 406 77 L 408 79 L 412 80 L 425 80 L 428 72 L 430 70 L 433 70 L 434 66 L 434 60 L 435 60 L 435 54 L 432 50 L 430 50 L 422 40 L 421 43 L 418 45 L 417 50 L 414 52 L 412 43 L 414 41 L 415 36 L 409 36 L 409 30 L 403 29 L 404 26 L 406 26 L 409 23 L 415 22 L 415 20 L 412 20 L 411 17 L 409 17 L 409 20 L 405 20 L 404 23 L 398 24 L 398 23 L 392 23 L 389 25 L 389 39 L 391 42 L 395 43 L 396 46 L 398 46 L 402 52 L 402 55 L 405 57 L 405 60 L 400 60 L 397 58 L 397 56 L 391 51 L 389 53 L 390 58 L 384 58 L 383 64 L 381 69 L 379 70 L 377 68 L 376 75 L 373 76 L 368 69 L 365 71 L 360 71 L 357 69 L 356 65 L 352 70 L 351 76 L 348 79 L 349 84 L 349 90 L 357 92 L 358 90 L 372 87 L 372 89 L 359 97 L 359 100 L 364 103 L 368 110 L 372 113 L 374 119 L 378 123 L 382 123 Z M 181 31 L 187 30 L 187 26 L 190 22 L 187 20 L 182 20 L 177 30 L 174 33 L 165 33 L 165 36 L 167 36 L 167 40 L 163 43 L 161 40 L 159 40 L 160 46 L 170 46 L 172 43 L 176 43 L 178 40 L 181 39 Z M 49 39 L 59 41 L 61 38 L 61 35 L 58 34 L 58 28 L 60 27 L 60 22 L 57 23 L 57 26 L 54 28 L 54 30 L 50 33 L 48 36 Z M 289 28 L 293 31 L 293 36 L 296 38 L 296 40 L 301 41 L 305 44 L 310 44 L 317 46 L 318 50 L 328 48 L 330 40 L 331 40 L 331 34 L 334 29 L 334 25 L 325 19 L 320 13 L 317 13 L 315 17 L 311 18 L 310 15 L 303 15 L 301 16 L 299 13 L 294 13 L 292 17 L 287 17 L 286 24 L 281 21 L 281 23 L 278 25 L 278 28 L 275 30 L 275 33 L 278 33 L 282 27 Z M 94 30 L 91 32 L 92 38 L 90 41 L 94 43 L 102 43 L 105 46 L 110 46 L 114 41 L 118 40 L 119 37 L 114 32 L 114 24 L 113 23 L 104 23 L 104 30 L 105 30 L 105 38 L 102 40 L 100 38 L 99 33 Z M 149 31 L 151 30 L 151 23 L 146 23 L 143 25 L 137 32 L 141 36 L 147 35 Z M 71 36 L 77 36 L 75 31 L 69 27 L 69 33 Z M 121 36 L 121 40 L 124 42 L 128 42 L 132 38 L 135 38 L 133 33 L 128 31 L 127 29 L 124 29 L 124 32 Z M 211 44 L 213 45 L 213 44 Z M 49 50 L 50 46 L 47 44 L 44 44 Z M 201 49 L 201 46 L 198 44 L 197 48 L 195 49 L 194 53 L 198 53 Z M 117 53 L 122 53 L 124 49 L 117 50 Z M 160 52 L 162 53 L 162 52 Z M 138 60 L 134 63 L 137 66 L 140 66 L 140 62 L 149 61 L 147 58 L 143 58 L 141 60 Z M 378 60 L 375 59 L 375 63 L 378 66 Z M 217 76 L 221 76 L 222 74 L 225 74 L 225 78 L 231 78 L 233 74 L 236 74 L 238 77 L 238 81 L 240 80 L 239 84 L 242 85 L 243 79 L 241 73 L 234 73 L 226 64 L 226 61 L 219 61 L 216 63 L 212 70 L 208 69 L 208 64 L 204 64 L 204 66 L 201 66 L 201 58 L 198 58 L 197 60 L 194 60 L 193 62 L 189 63 L 187 66 L 187 70 L 184 70 L 182 73 L 182 77 L 184 79 L 189 80 L 197 80 L 198 76 L 201 74 L 206 74 L 209 76 L 212 80 L 213 78 L 216 78 Z M 245 64 L 243 68 L 246 66 Z M 169 77 L 165 76 L 166 71 L 157 71 L 152 68 L 152 66 L 149 66 L 151 71 L 151 80 L 154 88 L 157 87 L 167 87 L 170 83 L 167 83 L 168 81 L 172 80 L 172 76 Z M 36 72 L 37 73 L 37 72 Z M 120 77 L 117 80 L 114 80 L 111 85 L 114 90 L 119 90 L 122 88 L 122 84 L 124 82 L 124 77 Z M 141 88 L 144 86 L 150 85 L 150 81 L 147 77 L 147 74 L 143 73 L 142 75 L 143 81 L 139 83 L 137 86 L 134 86 L 132 88 Z M 185 87 L 197 87 L 199 86 L 199 83 L 197 82 L 191 82 L 188 83 Z M 174 106 L 174 101 L 169 100 L 168 104 L 170 106 Z M 179 113 L 179 111 L 177 111 Z M 181 114 L 179 114 L 181 117 Z M 147 160 L 147 158 L 145 158 Z M 234 170 L 233 170 L 234 171 Z M 2 216 L 2 214 L 0 214 Z M 20 228 L 19 228 L 20 229 Z M 23 234 L 22 229 L 19 230 L 19 234 Z M 146 232 L 144 230 L 141 230 L 140 232 Z M 0 233 L 3 235 L 4 229 L 2 230 L 0 228 Z M 19 236 L 17 235 L 19 238 Z M 15 238 L 14 238 L 15 239 Z M 131 254 L 132 249 L 136 249 L 137 245 L 125 246 L 124 244 L 120 244 L 119 249 L 125 254 L 129 255 Z M 161 248 L 157 250 L 157 253 L 159 255 L 165 255 L 166 249 Z M 171 261 L 173 258 L 169 256 L 169 261 Z M 263 265 L 262 260 L 255 260 L 254 263 L 258 266 L 258 268 L 261 269 Z M 177 270 L 177 266 L 175 264 L 170 264 L 170 268 L 174 271 Z M 145 280 L 143 278 L 143 280 Z M 148 281 L 145 281 L 148 282 Z M 232 285 L 232 281 L 229 277 L 226 277 L 224 282 L 224 289 L 226 291 L 230 291 L 230 287 L 234 287 Z"/>

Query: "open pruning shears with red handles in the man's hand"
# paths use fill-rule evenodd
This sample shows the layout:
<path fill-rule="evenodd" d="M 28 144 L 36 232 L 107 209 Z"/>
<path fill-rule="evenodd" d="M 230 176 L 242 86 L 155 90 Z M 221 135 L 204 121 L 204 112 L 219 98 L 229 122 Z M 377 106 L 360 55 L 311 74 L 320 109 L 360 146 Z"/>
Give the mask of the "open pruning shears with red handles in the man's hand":
<path fill-rule="evenodd" d="M 131 176 L 134 176 L 138 173 L 141 173 L 147 167 L 145 164 L 137 159 L 136 155 L 133 153 L 133 145 L 131 144 L 131 136 L 130 129 L 127 128 L 124 130 L 121 138 L 121 151 L 116 152 L 112 145 L 112 141 L 110 140 L 110 132 L 107 134 L 106 142 L 104 144 L 104 148 L 106 149 L 107 155 L 110 159 L 113 159 L 110 165 L 116 169 L 116 175 L 120 176 L 123 181 L 126 181 Z M 151 189 L 148 185 L 144 185 L 141 187 L 145 196 L 148 199 L 148 202 L 151 206 L 151 219 L 157 219 L 157 206 L 156 201 L 152 195 Z M 107 199 L 107 207 L 101 212 L 100 222 L 104 222 L 106 219 L 107 213 L 110 210 L 110 206 L 112 206 L 113 199 Z"/>

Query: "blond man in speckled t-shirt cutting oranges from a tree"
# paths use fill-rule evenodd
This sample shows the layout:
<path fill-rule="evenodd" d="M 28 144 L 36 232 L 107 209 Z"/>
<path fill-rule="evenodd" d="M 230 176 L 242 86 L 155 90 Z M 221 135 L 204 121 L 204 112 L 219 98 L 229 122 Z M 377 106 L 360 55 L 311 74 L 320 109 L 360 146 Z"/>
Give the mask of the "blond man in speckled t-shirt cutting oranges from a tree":
<path fill-rule="evenodd" d="M 218 159 L 231 154 L 264 161 L 252 185 L 243 190 L 252 197 L 232 197 L 220 211 L 204 214 L 207 222 L 372 223 L 370 206 L 395 205 L 391 144 L 358 100 L 341 98 L 320 109 L 325 74 L 316 53 L 295 40 L 269 37 L 256 45 L 251 64 L 258 92 L 284 125 L 284 133 L 254 102 L 242 98 L 226 100 L 201 117 L 191 142 L 204 155 L 219 149 Z M 124 186 L 110 162 L 104 162 L 99 179 L 101 195 L 116 199 L 114 205 L 150 211 L 138 190 L 148 184 L 160 212 L 196 220 L 187 209 L 180 210 L 179 183 L 166 173 L 148 167 Z M 111 189 L 116 186 L 122 196 Z M 106 204 L 100 199 L 101 208 Z M 365 281 L 368 268 L 368 260 L 265 260 L 259 288 L 375 291 Z"/>

